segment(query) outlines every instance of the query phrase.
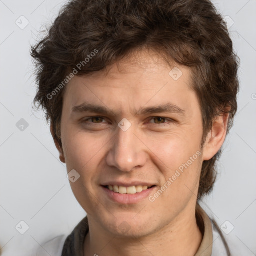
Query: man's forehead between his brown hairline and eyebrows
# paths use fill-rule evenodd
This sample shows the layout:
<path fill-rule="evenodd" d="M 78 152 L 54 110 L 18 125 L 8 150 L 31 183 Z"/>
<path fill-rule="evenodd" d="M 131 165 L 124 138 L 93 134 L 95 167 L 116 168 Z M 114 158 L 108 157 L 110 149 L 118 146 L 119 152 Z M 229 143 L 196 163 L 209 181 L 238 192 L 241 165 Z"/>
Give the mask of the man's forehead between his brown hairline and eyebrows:
<path fill-rule="evenodd" d="M 190 88 L 191 71 L 174 62 L 169 65 L 155 52 L 127 56 L 90 75 L 75 76 L 66 85 L 64 102 L 70 108 L 84 103 L 137 113 L 142 106 L 172 104 L 189 108 L 196 100 Z"/>

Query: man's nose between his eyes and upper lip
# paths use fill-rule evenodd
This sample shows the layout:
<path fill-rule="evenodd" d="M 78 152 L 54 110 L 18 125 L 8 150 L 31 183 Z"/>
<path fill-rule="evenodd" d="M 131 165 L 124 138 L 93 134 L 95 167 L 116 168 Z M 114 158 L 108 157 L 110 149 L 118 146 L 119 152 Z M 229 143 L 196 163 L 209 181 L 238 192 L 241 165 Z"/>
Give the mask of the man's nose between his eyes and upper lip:
<path fill-rule="evenodd" d="M 135 135 L 132 126 L 123 131 L 117 127 L 116 134 L 111 139 L 111 146 L 106 156 L 109 166 L 120 171 L 129 172 L 135 167 L 142 167 L 147 160 L 146 146 Z"/>

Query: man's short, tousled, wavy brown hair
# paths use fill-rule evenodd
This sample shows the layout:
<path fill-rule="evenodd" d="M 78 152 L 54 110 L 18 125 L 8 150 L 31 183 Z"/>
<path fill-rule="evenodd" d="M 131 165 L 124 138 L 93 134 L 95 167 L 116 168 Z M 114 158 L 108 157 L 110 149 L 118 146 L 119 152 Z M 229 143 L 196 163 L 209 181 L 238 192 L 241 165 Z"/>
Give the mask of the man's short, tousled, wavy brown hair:
<path fill-rule="evenodd" d="M 34 105 L 45 111 L 60 146 L 65 90 L 50 99 L 47 95 L 82 61 L 77 75 L 102 70 L 144 47 L 191 68 L 202 113 L 202 144 L 217 115 L 229 112 L 230 129 L 237 110 L 239 59 L 226 23 L 209 0 L 73 0 L 31 50 L 38 85 Z M 95 49 L 97 54 L 85 63 Z M 220 152 L 202 164 L 198 199 L 212 189 Z"/>

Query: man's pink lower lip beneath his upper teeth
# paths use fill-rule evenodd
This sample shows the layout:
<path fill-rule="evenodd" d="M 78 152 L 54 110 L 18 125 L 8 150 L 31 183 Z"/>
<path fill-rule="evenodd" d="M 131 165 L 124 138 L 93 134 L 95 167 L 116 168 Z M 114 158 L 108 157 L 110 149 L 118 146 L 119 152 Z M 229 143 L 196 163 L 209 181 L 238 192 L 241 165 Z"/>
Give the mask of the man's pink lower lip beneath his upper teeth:
<path fill-rule="evenodd" d="M 151 188 L 147 188 L 146 190 L 143 190 L 140 193 L 135 194 L 120 194 L 116 193 L 114 191 L 109 190 L 108 188 L 101 186 L 103 188 L 103 191 L 107 194 L 107 196 L 117 202 L 122 204 L 132 204 L 132 203 L 138 203 L 141 200 L 147 198 L 149 194 L 156 189 L 156 186 L 153 186 Z"/>

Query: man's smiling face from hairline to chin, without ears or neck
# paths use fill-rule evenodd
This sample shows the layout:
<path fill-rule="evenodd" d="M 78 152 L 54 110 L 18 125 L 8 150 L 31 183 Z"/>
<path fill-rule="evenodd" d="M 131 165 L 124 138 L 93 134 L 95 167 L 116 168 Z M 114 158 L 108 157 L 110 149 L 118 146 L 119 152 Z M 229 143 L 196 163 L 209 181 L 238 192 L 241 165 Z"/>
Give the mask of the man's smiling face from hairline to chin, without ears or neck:
<path fill-rule="evenodd" d="M 114 235 L 149 235 L 195 207 L 199 103 L 190 70 L 156 54 L 142 51 L 107 69 L 66 85 L 63 157 L 80 175 L 70 184 L 89 221 Z"/>

